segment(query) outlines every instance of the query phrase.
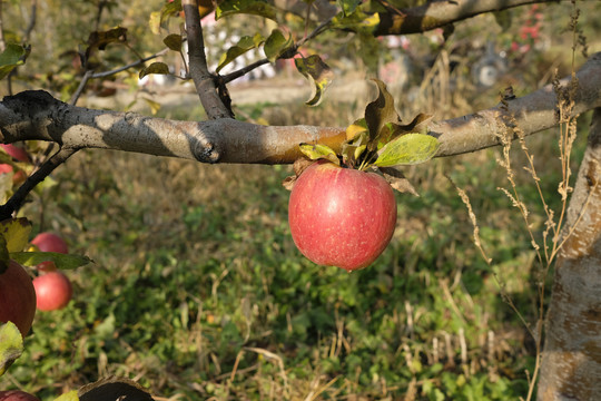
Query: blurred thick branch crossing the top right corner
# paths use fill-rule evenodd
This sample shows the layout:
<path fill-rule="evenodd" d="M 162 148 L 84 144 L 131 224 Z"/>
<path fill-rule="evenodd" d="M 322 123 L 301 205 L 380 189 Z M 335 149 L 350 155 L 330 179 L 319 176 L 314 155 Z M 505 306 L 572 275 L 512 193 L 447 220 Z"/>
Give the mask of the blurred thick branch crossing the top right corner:
<path fill-rule="evenodd" d="M 560 0 L 428 1 L 420 7 L 378 12 L 380 23 L 374 36 L 425 32 L 481 13 L 558 1 Z"/>

